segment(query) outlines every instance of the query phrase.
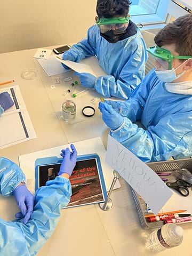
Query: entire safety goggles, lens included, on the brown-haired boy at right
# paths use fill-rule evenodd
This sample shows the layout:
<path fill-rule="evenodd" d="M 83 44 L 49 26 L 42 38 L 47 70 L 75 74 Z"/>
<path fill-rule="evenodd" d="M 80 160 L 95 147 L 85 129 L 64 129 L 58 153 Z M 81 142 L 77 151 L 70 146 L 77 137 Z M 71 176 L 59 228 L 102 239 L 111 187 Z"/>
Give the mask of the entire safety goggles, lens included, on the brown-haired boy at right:
<path fill-rule="evenodd" d="M 147 51 L 153 55 L 154 62 L 157 67 L 163 67 L 164 69 L 172 69 L 174 66 L 174 59 L 188 60 L 192 56 L 186 55 L 173 55 L 170 51 L 159 47 L 159 46 L 150 46 Z"/>

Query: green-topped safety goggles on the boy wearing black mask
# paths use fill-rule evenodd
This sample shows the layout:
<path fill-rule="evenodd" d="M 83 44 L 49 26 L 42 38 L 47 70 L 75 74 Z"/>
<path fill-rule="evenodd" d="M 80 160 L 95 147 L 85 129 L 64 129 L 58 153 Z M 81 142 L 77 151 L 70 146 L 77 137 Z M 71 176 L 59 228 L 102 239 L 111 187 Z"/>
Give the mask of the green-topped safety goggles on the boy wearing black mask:
<path fill-rule="evenodd" d="M 96 17 L 96 24 L 99 26 L 102 34 L 113 30 L 114 34 L 122 34 L 129 26 L 130 15 L 125 18 L 98 18 Z"/>

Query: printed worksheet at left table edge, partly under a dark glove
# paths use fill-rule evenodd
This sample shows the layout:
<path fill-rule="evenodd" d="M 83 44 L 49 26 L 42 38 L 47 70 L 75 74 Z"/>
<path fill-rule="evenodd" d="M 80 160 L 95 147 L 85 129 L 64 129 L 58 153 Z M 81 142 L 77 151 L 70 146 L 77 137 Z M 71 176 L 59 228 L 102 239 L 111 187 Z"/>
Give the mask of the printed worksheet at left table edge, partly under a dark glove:
<path fill-rule="evenodd" d="M 14 105 L 0 117 L 0 149 L 37 138 L 19 86 L 6 87 L 2 92 L 10 94 Z"/>

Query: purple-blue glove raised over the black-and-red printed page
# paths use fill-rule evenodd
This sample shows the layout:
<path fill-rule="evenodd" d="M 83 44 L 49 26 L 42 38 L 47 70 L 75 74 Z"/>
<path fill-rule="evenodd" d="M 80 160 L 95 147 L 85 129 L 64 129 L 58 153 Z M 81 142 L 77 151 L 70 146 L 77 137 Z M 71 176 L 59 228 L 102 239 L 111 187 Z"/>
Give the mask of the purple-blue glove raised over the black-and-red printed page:
<path fill-rule="evenodd" d="M 73 153 L 70 152 L 69 148 L 61 150 L 61 152 L 62 152 L 61 156 L 63 157 L 63 161 L 62 161 L 58 175 L 67 173 L 70 176 L 74 170 L 74 167 L 75 167 L 76 161 L 77 161 L 77 151 L 73 144 L 71 144 L 70 147 L 71 147 L 71 150 L 73 151 Z"/>

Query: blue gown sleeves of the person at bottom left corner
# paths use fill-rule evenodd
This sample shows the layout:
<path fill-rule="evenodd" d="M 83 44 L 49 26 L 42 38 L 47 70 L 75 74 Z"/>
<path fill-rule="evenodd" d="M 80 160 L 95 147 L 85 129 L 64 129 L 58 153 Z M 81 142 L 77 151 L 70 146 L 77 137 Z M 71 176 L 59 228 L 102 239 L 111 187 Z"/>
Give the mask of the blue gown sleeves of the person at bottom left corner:
<path fill-rule="evenodd" d="M 11 196 L 15 186 L 24 180 L 25 174 L 18 165 L 0 157 L 0 193 L 3 196 Z M 36 255 L 51 237 L 59 221 L 61 207 L 69 203 L 70 196 L 69 180 L 57 177 L 36 191 L 34 212 L 26 225 L 22 220 L 6 222 L 0 219 L 0 255 Z"/>

